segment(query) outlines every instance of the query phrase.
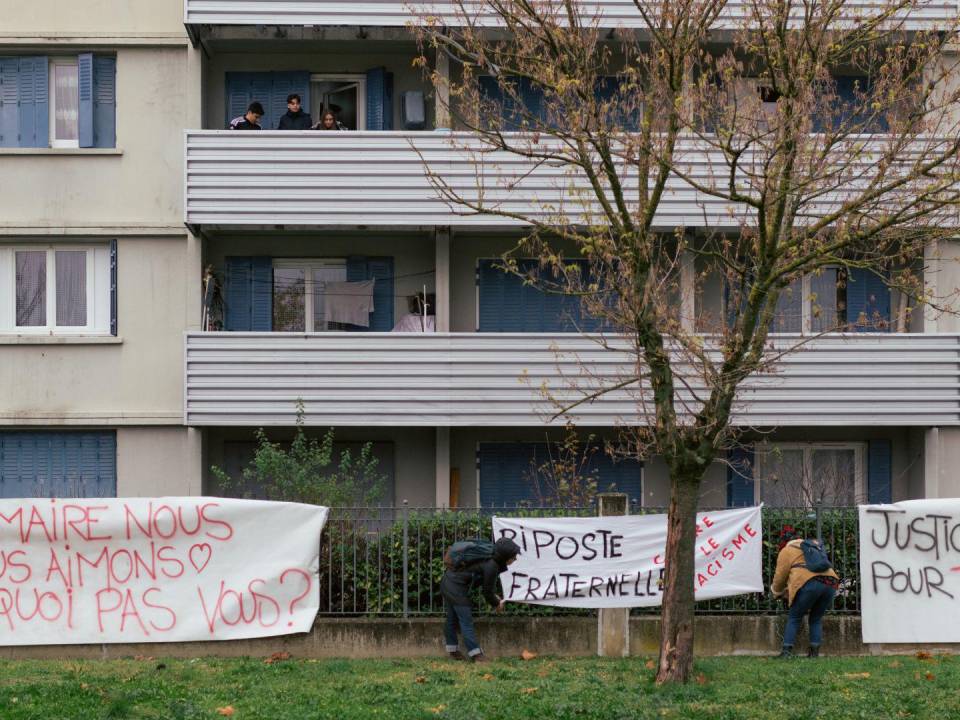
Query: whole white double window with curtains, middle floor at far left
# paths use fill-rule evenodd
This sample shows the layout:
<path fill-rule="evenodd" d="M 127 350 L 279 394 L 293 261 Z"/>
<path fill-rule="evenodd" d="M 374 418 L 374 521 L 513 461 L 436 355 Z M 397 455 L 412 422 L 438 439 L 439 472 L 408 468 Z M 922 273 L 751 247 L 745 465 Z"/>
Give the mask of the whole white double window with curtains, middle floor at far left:
<path fill-rule="evenodd" d="M 110 248 L 0 246 L 0 332 L 110 334 Z"/>

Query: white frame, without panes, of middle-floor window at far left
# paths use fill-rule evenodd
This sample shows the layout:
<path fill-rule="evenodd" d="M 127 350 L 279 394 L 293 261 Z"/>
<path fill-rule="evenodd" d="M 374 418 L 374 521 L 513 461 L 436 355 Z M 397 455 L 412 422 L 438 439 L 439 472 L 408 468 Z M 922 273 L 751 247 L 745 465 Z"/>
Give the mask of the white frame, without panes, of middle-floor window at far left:
<path fill-rule="evenodd" d="M 19 326 L 17 322 L 16 253 L 46 252 L 46 324 Z M 84 251 L 86 261 L 87 324 L 57 325 L 57 251 Z M 109 336 L 109 243 L 10 243 L 0 244 L 0 335 Z"/>

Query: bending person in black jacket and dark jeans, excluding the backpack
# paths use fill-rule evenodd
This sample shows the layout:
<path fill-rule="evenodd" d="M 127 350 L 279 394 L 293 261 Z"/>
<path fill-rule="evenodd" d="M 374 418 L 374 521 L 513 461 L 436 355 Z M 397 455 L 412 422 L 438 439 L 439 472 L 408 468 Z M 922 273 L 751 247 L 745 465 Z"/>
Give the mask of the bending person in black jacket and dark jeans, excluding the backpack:
<path fill-rule="evenodd" d="M 443 628 L 447 654 L 454 660 L 466 660 L 460 652 L 458 633 L 463 636 L 467 657 L 473 662 L 486 662 L 473 626 L 470 590 L 480 586 L 483 597 L 495 612 L 503 611 L 504 600 L 497 595 L 497 578 L 520 554 L 520 546 L 509 538 L 500 538 L 493 546 L 493 557 L 472 563 L 462 570 L 446 570 L 440 580 L 440 594 L 447 613 Z"/>

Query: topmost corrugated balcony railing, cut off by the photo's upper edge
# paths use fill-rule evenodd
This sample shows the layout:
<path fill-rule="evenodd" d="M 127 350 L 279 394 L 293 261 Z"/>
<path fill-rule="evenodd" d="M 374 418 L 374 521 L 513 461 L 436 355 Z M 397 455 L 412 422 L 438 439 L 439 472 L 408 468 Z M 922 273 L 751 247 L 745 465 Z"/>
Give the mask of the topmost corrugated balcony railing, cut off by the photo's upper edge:
<path fill-rule="evenodd" d="M 581 3 L 584 17 L 598 17 L 604 28 L 643 28 L 633 0 L 593 0 Z M 496 26 L 498 21 L 489 5 L 478 0 L 466 8 L 479 25 Z M 715 28 L 739 27 L 749 16 L 751 5 L 731 0 Z M 860 17 L 875 14 L 884 5 L 877 0 L 849 0 L 840 18 L 856 22 Z M 797 5 L 798 16 L 803 6 Z M 460 24 L 451 2 L 423 0 L 185 0 L 187 25 L 292 25 L 365 27 L 403 27 L 417 15 L 430 15 L 447 26 Z M 957 16 L 955 0 L 921 0 L 905 15 L 906 28 L 935 29 L 951 23 Z"/>

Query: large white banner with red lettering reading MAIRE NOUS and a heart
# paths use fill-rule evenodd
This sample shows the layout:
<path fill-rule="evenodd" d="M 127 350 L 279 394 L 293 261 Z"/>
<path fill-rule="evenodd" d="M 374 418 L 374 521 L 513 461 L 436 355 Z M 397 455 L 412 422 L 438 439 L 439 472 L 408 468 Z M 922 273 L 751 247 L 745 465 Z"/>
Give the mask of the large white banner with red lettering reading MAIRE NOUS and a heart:
<path fill-rule="evenodd" d="M 326 518 L 227 498 L 0 501 L 0 645 L 307 632 Z"/>

